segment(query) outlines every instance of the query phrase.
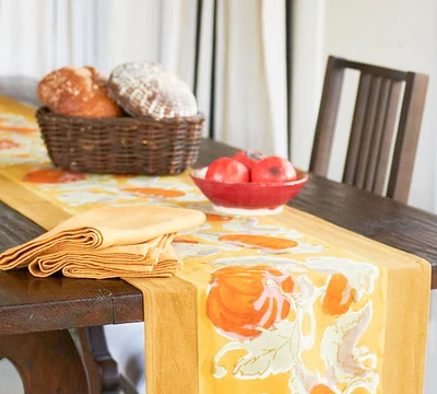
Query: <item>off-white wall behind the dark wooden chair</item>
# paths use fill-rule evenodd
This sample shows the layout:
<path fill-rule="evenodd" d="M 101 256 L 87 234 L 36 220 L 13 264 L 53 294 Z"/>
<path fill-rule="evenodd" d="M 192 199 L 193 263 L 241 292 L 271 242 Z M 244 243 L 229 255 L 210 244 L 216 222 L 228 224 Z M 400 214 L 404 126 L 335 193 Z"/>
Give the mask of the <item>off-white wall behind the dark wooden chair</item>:
<path fill-rule="evenodd" d="M 434 0 L 296 0 L 293 124 L 296 163 L 309 162 L 316 114 L 328 55 L 429 76 L 410 204 L 436 210 L 437 2 Z M 308 54 L 310 53 L 310 54 Z M 303 72 L 305 71 L 305 72 Z M 302 73 L 300 73 L 302 72 Z M 307 82 L 304 86 L 302 79 Z M 346 95 L 346 101 L 354 99 Z M 347 104 L 347 103 L 346 103 Z M 302 106 L 304 113 L 300 112 Z M 340 119 L 339 126 L 349 126 Z M 338 130 L 334 149 L 346 140 Z M 305 137 L 303 137 L 305 134 Z M 303 141 L 304 150 L 299 141 Z M 339 158 L 339 155 L 335 155 Z M 340 157 L 330 169 L 339 177 Z"/>

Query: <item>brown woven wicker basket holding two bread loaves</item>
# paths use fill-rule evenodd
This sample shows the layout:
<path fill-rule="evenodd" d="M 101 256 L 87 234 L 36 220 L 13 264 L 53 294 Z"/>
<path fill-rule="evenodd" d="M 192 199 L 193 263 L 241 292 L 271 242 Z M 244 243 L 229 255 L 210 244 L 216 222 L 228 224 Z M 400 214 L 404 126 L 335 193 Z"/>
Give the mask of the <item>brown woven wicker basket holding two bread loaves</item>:
<path fill-rule="evenodd" d="M 84 173 L 175 175 L 194 164 L 203 115 L 83 118 L 47 107 L 36 117 L 55 165 Z"/>

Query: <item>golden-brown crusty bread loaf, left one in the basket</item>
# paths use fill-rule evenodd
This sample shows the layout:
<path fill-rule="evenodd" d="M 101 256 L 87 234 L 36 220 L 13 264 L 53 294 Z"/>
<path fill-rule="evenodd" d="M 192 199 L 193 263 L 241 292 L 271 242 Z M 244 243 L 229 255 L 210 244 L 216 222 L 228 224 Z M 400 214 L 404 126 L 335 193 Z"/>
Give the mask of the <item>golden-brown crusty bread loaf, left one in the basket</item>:
<path fill-rule="evenodd" d="M 63 67 L 38 84 L 39 101 L 52 112 L 88 118 L 121 116 L 108 95 L 106 81 L 93 67 Z"/>

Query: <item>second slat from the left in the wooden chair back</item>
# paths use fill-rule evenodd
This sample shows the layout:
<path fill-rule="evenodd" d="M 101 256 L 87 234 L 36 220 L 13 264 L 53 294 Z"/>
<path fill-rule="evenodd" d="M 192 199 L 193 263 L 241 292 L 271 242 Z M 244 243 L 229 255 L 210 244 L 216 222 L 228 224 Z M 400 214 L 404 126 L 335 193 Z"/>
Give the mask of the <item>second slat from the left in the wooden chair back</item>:
<path fill-rule="evenodd" d="M 370 141 L 375 129 L 375 118 L 378 108 L 381 78 L 371 77 L 366 113 L 364 116 L 362 138 L 359 141 L 358 157 L 355 164 L 354 186 L 357 186 L 359 188 L 364 187 L 364 182 L 366 177 L 366 169 L 370 152 Z"/>

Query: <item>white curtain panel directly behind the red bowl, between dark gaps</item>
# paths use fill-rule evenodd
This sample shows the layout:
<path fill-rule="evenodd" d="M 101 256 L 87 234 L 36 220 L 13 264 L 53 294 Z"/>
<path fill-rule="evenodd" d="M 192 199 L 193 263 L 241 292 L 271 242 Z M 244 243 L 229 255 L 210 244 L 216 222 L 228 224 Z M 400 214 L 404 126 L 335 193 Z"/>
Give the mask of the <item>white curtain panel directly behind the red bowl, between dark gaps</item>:
<path fill-rule="evenodd" d="M 214 129 L 236 147 L 286 157 L 284 4 L 218 2 Z"/>

